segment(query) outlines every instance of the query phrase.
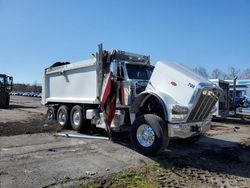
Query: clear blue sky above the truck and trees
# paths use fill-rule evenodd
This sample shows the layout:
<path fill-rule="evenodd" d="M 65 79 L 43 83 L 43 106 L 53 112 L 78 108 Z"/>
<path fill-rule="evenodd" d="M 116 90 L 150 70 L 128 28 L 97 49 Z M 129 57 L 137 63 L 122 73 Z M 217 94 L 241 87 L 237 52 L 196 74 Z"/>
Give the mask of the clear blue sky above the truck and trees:
<path fill-rule="evenodd" d="M 209 73 L 250 68 L 250 0 L 0 0 L 0 73 L 42 83 L 97 44 Z"/>

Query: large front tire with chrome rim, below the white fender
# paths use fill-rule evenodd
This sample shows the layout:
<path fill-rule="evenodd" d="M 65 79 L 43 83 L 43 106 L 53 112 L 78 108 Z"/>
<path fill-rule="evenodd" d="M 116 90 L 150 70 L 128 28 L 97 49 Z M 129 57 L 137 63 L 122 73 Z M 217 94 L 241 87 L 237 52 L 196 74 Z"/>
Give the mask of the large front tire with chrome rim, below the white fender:
<path fill-rule="evenodd" d="M 136 118 L 131 127 L 130 138 L 135 149 L 145 155 L 159 154 L 169 143 L 166 123 L 153 114 Z"/>

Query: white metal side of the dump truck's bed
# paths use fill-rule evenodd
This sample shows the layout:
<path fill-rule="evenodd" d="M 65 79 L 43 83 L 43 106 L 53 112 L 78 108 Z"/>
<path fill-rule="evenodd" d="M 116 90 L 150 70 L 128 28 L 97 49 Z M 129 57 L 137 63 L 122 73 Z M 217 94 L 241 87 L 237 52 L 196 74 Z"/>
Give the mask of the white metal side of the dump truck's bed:
<path fill-rule="evenodd" d="M 42 104 L 98 103 L 96 60 L 45 69 L 43 88 Z"/>

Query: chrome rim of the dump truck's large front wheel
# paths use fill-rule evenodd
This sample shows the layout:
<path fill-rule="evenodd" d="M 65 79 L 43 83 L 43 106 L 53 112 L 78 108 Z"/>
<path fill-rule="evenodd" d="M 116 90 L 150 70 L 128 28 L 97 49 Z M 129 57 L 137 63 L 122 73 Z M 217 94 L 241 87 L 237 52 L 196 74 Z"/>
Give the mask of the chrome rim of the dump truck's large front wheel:
<path fill-rule="evenodd" d="M 147 124 L 138 127 L 136 137 L 138 142 L 144 147 L 150 147 L 155 141 L 155 133 Z"/>

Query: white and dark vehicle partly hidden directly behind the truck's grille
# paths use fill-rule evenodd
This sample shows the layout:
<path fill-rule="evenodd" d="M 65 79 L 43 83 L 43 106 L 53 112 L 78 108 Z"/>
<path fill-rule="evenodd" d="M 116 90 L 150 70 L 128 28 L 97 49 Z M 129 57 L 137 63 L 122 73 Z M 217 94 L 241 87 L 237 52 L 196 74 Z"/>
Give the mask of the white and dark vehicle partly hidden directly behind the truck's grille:
<path fill-rule="evenodd" d="M 210 82 L 219 86 L 223 91 L 217 101 L 214 117 L 226 118 L 230 112 L 229 82 L 220 79 L 210 79 Z"/>

